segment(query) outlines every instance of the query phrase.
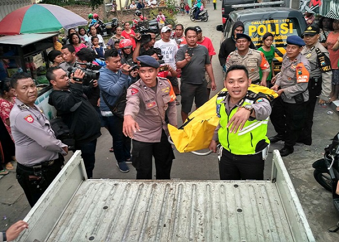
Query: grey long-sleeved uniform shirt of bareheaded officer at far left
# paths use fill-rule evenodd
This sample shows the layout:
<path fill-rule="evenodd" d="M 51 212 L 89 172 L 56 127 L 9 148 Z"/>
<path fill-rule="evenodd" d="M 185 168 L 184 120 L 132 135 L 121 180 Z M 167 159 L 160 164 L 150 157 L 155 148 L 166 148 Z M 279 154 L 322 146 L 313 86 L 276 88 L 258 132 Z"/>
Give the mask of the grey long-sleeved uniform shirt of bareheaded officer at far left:
<path fill-rule="evenodd" d="M 33 166 L 66 154 L 62 144 L 54 136 L 50 123 L 36 105 L 24 105 L 16 98 L 10 113 L 13 139 L 15 141 L 15 158 L 24 166 Z"/>

